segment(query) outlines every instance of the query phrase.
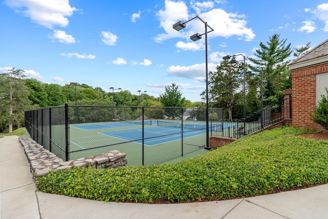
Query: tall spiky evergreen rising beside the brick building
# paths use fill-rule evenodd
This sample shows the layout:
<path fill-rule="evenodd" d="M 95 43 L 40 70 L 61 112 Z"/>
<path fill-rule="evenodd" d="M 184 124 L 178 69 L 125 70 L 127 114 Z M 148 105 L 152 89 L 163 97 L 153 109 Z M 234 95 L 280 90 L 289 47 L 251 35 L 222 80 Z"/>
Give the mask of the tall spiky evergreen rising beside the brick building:
<path fill-rule="evenodd" d="M 260 48 L 249 57 L 254 64 L 249 65 L 252 71 L 263 72 L 263 96 L 268 101 L 282 97 L 282 90 L 291 88 L 291 71 L 288 69 L 287 58 L 291 55 L 291 44 L 286 39 L 279 39 L 280 34 L 269 36 L 267 45 L 260 42 Z"/>

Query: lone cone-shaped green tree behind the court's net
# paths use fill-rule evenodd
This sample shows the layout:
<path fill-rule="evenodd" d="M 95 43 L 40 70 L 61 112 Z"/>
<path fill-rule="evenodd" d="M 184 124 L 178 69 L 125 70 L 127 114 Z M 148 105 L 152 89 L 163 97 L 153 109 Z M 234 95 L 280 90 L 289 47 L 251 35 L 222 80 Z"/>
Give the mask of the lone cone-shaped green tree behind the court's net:
<path fill-rule="evenodd" d="M 186 98 L 182 97 L 182 93 L 178 89 L 179 87 L 174 83 L 172 83 L 172 85 L 166 86 L 165 92 L 163 94 L 159 94 L 160 103 L 162 103 L 164 107 L 185 107 Z M 165 115 L 169 118 L 181 117 L 181 109 L 166 108 Z"/>

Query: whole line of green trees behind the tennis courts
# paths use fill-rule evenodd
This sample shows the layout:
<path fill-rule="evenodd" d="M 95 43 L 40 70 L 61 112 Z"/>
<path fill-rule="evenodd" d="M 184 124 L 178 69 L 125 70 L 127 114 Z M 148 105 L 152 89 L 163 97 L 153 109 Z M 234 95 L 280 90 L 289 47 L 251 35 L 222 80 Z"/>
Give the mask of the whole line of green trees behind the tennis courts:
<path fill-rule="evenodd" d="M 261 106 L 261 89 L 263 89 L 264 104 L 277 101 L 282 97 L 282 90 L 290 89 L 291 71 L 288 64 L 294 58 L 301 56 L 310 48 L 310 42 L 300 48 L 291 48 L 286 39 L 280 39 L 279 34 L 269 37 L 267 43 L 260 42 L 254 58 L 248 57 L 251 63 L 245 70 L 252 74 L 245 76 L 243 90 L 243 62 L 223 60 L 216 71 L 209 72 L 209 106 L 224 108 L 226 118 L 240 118 L 243 115 L 243 95 L 247 112 L 255 111 Z M 236 57 L 232 57 L 236 58 Z M 261 78 L 263 77 L 263 80 Z M 263 86 L 261 86 L 263 84 Z M 244 93 L 245 92 L 245 93 Z M 200 95 L 206 100 L 206 91 Z M 159 97 L 147 93 L 132 94 L 128 90 L 106 92 L 100 87 L 86 84 L 70 83 L 64 86 L 42 83 L 34 78 L 26 78 L 23 70 L 11 69 L 0 74 L 0 131 L 12 131 L 12 127 L 24 124 L 24 111 L 30 109 L 70 105 L 88 106 L 154 106 L 154 107 L 197 107 L 204 108 L 204 102 L 194 102 L 182 97 L 178 86 L 174 83 L 165 88 Z M 191 112 L 192 117 L 200 115 L 201 109 Z M 165 110 L 162 112 L 168 118 L 174 118 L 180 111 Z"/>

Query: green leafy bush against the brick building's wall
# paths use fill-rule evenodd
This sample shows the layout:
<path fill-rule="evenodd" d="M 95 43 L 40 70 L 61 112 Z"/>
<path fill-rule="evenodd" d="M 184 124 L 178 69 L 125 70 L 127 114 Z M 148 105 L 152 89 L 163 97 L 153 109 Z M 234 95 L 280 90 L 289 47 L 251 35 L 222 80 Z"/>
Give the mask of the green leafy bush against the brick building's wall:
<path fill-rule="evenodd" d="M 328 96 L 328 89 L 326 88 L 327 96 Z M 324 129 L 328 130 L 328 99 L 326 96 L 321 95 L 321 100 L 319 101 L 318 106 L 314 107 L 313 113 L 309 112 L 312 120 L 315 123 L 320 124 L 323 126 Z"/>

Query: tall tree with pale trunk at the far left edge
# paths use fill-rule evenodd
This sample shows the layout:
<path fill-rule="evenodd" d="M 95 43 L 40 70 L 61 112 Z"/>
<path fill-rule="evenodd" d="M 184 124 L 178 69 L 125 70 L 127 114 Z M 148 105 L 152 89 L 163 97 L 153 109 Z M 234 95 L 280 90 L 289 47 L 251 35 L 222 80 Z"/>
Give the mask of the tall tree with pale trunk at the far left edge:
<path fill-rule="evenodd" d="M 24 77 L 24 71 L 15 68 L 0 74 L 0 121 L 9 127 L 8 132 L 12 132 L 14 125 L 20 127 L 24 122 L 24 111 L 31 108 Z"/>

